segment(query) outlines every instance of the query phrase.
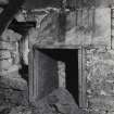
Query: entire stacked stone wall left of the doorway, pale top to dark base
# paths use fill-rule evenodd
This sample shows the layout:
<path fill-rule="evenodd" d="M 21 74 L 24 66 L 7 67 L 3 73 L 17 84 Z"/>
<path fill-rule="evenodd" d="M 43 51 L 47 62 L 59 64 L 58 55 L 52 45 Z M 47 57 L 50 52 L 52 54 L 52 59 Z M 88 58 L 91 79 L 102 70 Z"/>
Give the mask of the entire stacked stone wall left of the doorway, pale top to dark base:
<path fill-rule="evenodd" d="M 18 40 L 22 36 L 5 29 L 0 40 L 0 113 L 15 105 L 26 105 L 27 81 L 20 74 Z"/>

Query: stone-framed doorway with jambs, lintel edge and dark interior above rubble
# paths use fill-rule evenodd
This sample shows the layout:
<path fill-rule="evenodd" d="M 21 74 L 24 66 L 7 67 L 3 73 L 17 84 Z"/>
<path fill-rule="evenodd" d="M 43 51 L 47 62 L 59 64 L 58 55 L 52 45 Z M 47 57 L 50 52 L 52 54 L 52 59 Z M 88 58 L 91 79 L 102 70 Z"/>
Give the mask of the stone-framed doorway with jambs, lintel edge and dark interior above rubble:
<path fill-rule="evenodd" d="M 54 89 L 63 87 L 84 107 L 87 99 L 83 54 L 81 48 L 42 48 L 35 45 L 29 53 L 29 101 L 40 100 Z"/>

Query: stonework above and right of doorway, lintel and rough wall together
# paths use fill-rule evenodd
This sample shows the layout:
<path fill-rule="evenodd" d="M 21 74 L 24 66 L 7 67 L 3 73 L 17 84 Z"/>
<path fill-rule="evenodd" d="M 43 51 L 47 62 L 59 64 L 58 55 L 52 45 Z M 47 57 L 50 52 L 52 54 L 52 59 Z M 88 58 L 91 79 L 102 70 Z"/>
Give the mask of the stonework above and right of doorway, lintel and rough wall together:
<path fill-rule="evenodd" d="M 66 13 L 64 40 L 55 28 L 58 15 L 49 13 L 37 29 L 30 31 L 30 42 L 55 46 L 86 47 L 87 99 L 90 114 L 114 113 L 114 50 L 111 49 L 111 9 L 79 9 Z M 55 20 L 55 21 L 52 21 Z M 77 21 L 77 22 L 76 22 Z M 53 23 L 52 23 L 53 22 Z M 50 34 L 51 33 L 51 34 Z M 62 33 L 61 33 L 62 34 Z M 39 36 L 40 35 L 40 36 Z M 96 47 L 96 48 L 93 48 Z"/>

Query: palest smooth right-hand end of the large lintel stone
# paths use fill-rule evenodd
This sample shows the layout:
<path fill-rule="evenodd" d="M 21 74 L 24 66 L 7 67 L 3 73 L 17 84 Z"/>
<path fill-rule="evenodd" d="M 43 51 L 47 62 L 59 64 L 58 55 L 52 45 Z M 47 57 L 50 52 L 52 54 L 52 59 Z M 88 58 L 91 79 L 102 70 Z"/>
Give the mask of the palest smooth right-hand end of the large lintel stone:
<path fill-rule="evenodd" d="M 111 46 L 111 9 L 96 9 L 96 25 L 92 43 Z"/>

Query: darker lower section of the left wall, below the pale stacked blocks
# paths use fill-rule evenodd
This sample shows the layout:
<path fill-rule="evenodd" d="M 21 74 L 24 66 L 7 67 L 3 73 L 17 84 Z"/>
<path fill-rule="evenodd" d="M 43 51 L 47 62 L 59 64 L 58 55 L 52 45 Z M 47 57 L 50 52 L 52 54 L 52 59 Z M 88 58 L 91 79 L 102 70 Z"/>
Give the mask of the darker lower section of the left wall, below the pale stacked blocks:
<path fill-rule="evenodd" d="M 21 77 L 0 76 L 0 114 L 9 114 L 17 105 L 28 105 L 27 83 Z"/>

